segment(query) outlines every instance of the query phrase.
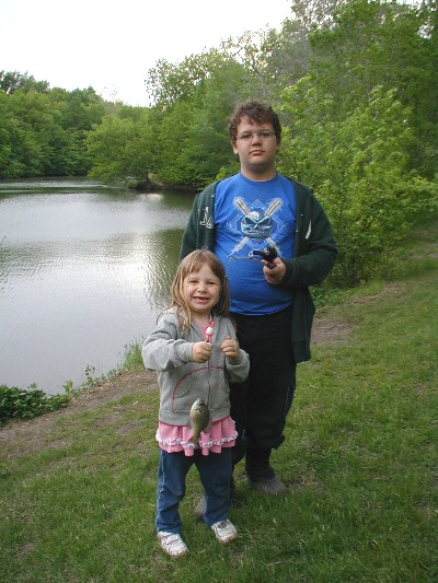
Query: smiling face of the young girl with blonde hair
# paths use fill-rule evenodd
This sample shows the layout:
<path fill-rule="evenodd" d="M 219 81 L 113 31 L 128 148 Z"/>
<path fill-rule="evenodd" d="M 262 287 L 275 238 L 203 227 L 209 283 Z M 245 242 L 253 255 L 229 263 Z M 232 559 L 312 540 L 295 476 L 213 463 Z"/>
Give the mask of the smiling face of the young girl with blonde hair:
<path fill-rule="evenodd" d="M 208 264 L 203 264 L 199 271 L 195 271 L 184 279 L 184 299 L 196 318 L 209 317 L 212 307 L 218 303 L 221 283 Z"/>

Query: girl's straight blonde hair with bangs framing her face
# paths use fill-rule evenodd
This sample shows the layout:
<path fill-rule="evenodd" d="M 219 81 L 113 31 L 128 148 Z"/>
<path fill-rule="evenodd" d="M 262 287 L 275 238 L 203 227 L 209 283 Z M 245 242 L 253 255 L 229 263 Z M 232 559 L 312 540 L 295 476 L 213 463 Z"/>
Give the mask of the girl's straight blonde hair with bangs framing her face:
<path fill-rule="evenodd" d="M 171 287 L 171 306 L 176 307 L 176 314 L 181 322 L 183 331 L 187 330 L 192 324 L 191 310 L 184 299 L 184 280 L 192 273 L 197 273 L 204 264 L 207 264 L 214 275 L 220 281 L 219 301 L 215 305 L 215 314 L 218 316 L 229 315 L 230 291 L 226 270 L 218 257 L 208 249 L 195 249 L 181 261 L 175 278 Z"/>

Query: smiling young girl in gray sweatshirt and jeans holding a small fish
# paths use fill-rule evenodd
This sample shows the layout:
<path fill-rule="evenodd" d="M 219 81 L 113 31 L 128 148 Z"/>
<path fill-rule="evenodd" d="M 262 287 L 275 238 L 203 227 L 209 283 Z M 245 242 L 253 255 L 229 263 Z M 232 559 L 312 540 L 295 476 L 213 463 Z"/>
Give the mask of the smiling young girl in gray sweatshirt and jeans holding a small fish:
<path fill-rule="evenodd" d="M 216 255 L 206 249 L 187 255 L 171 294 L 171 307 L 145 340 L 141 353 L 145 366 L 158 371 L 160 386 L 157 533 L 164 552 L 181 557 L 187 547 L 181 538 L 178 505 L 193 464 L 204 487 L 205 523 L 222 544 L 238 536 L 228 520 L 231 447 L 237 438 L 229 381 L 244 381 L 250 361 L 228 317 L 228 282 Z M 189 417 L 198 398 L 208 407 L 210 423 L 193 439 Z"/>

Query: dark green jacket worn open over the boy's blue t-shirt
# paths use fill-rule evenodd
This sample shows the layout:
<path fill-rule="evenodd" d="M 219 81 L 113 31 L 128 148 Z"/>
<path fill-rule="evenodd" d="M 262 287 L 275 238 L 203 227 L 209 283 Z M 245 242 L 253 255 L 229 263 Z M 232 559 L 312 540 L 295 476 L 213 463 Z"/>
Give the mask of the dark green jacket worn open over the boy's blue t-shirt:
<path fill-rule="evenodd" d="M 290 178 L 289 178 L 290 179 Z M 328 219 L 312 190 L 290 179 L 297 201 L 297 229 L 293 258 L 283 259 L 286 273 L 279 285 L 292 292 L 292 349 L 296 362 L 311 358 L 310 334 L 314 304 L 309 285 L 321 283 L 332 270 L 337 247 Z M 180 260 L 197 248 L 215 249 L 215 189 L 212 183 L 194 201 L 183 235 Z"/>

